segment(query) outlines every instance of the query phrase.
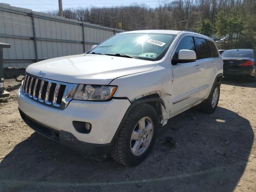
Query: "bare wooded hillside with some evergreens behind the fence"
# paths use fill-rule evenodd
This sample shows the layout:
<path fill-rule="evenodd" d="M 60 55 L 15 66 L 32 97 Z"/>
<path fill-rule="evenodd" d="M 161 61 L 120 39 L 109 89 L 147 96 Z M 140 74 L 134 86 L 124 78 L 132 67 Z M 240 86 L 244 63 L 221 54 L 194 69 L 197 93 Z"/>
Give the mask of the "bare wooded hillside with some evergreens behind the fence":
<path fill-rule="evenodd" d="M 58 15 L 58 11 L 51 14 Z M 190 30 L 230 37 L 222 48 L 256 48 L 256 0 L 174 0 L 63 10 L 63 16 L 122 30 Z"/>

